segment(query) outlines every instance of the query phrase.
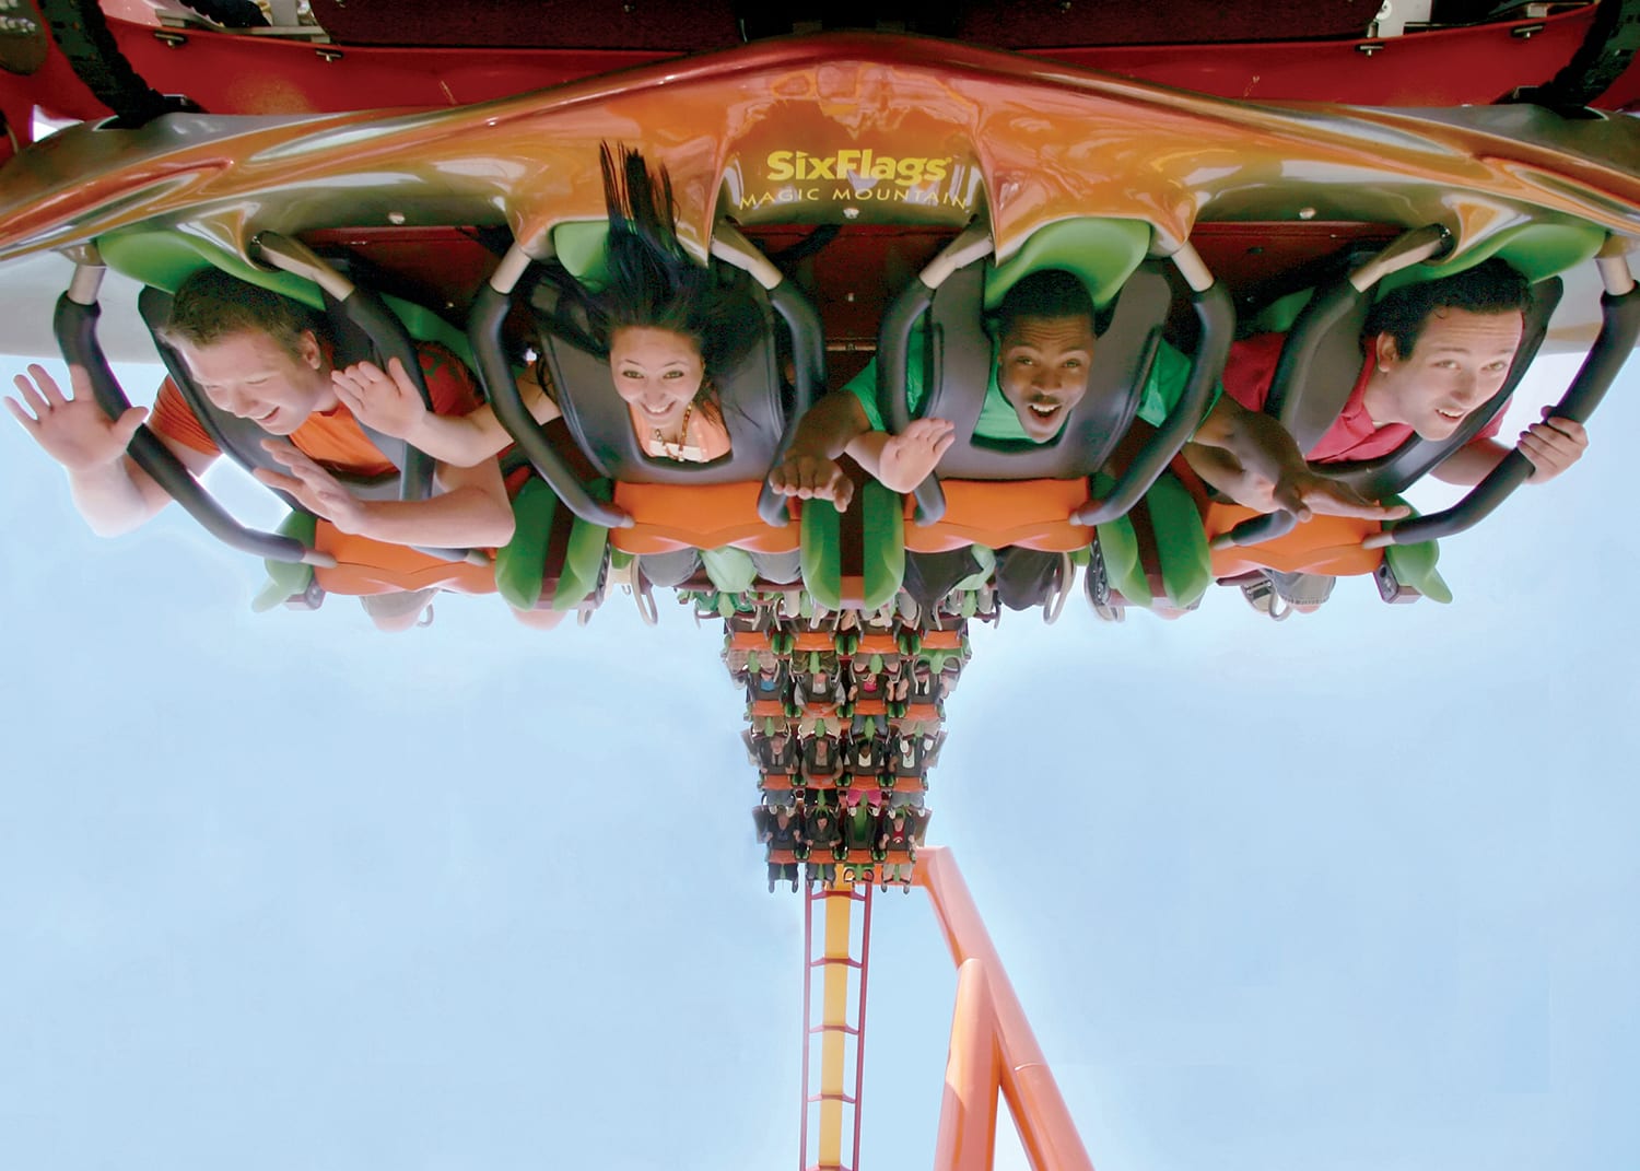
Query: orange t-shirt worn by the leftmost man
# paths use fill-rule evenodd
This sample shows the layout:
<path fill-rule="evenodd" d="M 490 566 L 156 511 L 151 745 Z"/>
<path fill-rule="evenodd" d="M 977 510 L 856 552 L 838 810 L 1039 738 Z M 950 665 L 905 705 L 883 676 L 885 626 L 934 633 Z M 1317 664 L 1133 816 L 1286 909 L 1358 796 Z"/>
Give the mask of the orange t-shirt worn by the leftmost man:
<path fill-rule="evenodd" d="M 435 415 L 466 415 L 484 402 L 472 374 L 449 349 L 431 341 L 417 343 L 417 356 L 421 359 L 421 374 L 426 377 L 428 397 L 433 400 Z M 154 410 L 148 417 L 148 426 L 167 440 L 174 440 L 185 448 L 192 448 L 207 456 L 220 456 L 221 449 L 210 438 L 210 433 L 194 417 L 175 382 L 166 379 L 154 400 Z M 394 464 L 376 449 L 359 421 L 343 405 L 335 410 L 315 412 L 307 417 L 295 431 L 290 443 L 298 451 L 333 472 L 348 476 L 384 476 L 394 471 Z"/>

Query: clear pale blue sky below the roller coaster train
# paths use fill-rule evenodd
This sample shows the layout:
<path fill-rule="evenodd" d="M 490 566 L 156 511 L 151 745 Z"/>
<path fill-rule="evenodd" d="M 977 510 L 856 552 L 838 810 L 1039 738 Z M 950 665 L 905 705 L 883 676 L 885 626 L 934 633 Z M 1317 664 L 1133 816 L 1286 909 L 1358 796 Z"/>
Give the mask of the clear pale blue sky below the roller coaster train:
<path fill-rule="evenodd" d="M 1102 1171 L 1640 1166 L 1635 382 L 1451 607 L 979 633 L 930 838 Z M 8 420 L 0 525 L 0 1166 L 795 1164 L 800 902 L 713 631 L 254 617 Z M 884 895 L 864 1168 L 932 1161 L 953 986 Z"/>

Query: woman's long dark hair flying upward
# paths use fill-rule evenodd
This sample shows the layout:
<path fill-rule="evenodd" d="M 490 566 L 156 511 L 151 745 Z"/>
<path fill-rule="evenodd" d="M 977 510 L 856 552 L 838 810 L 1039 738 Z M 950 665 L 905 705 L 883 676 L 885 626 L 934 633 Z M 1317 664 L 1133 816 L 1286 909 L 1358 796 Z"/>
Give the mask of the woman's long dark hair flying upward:
<path fill-rule="evenodd" d="M 618 159 L 617 159 L 618 154 Z M 761 331 L 756 305 L 697 264 L 677 239 L 672 179 L 651 171 L 643 154 L 623 146 L 600 149 L 608 212 L 608 284 L 581 294 L 594 336 L 607 349 L 617 330 L 667 330 L 700 348 L 710 394 L 712 376 L 731 367 Z"/>

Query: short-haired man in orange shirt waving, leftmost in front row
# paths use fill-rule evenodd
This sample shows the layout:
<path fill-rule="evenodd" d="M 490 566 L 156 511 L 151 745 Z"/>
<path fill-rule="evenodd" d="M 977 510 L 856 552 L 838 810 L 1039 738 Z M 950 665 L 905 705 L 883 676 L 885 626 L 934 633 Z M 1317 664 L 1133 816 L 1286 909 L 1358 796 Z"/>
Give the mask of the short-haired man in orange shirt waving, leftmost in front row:
<path fill-rule="evenodd" d="M 438 548 L 494 548 L 512 540 L 512 507 L 494 461 L 440 464 L 441 490 L 428 500 L 359 500 L 336 481 L 333 472 L 369 476 L 394 466 L 336 397 L 328 341 L 302 305 L 205 269 L 177 289 L 167 339 L 213 405 L 284 436 L 264 446 L 289 474 L 257 471 L 256 477 L 339 531 Z M 421 364 L 435 408 L 466 413 L 477 407 L 459 361 L 428 348 Z M 69 472 L 74 505 L 100 536 L 138 528 L 171 500 L 125 453 L 144 420 L 195 476 L 221 454 L 169 379 L 153 412 L 133 407 L 110 420 L 92 399 L 85 371 L 71 367 L 72 397 L 44 367 L 30 366 L 30 376 L 16 376 L 21 402 L 7 399 L 7 407 Z"/>

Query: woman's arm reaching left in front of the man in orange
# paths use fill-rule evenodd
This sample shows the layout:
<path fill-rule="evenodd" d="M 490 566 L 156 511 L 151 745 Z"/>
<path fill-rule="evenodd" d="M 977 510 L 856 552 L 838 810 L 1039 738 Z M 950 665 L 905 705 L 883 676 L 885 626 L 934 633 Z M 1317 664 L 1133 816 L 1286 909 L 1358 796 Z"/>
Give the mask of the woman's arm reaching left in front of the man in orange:
<path fill-rule="evenodd" d="M 372 362 L 333 371 L 331 384 L 336 397 L 361 423 L 456 467 L 482 464 L 512 443 L 489 405 L 466 415 L 430 412 L 397 358 L 387 364 L 385 372 Z M 558 403 L 548 397 L 533 372 L 518 376 L 518 394 L 536 423 L 549 423 L 559 417 Z"/>

